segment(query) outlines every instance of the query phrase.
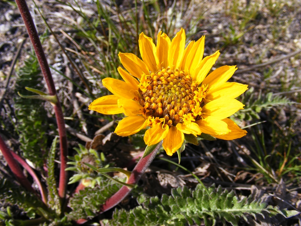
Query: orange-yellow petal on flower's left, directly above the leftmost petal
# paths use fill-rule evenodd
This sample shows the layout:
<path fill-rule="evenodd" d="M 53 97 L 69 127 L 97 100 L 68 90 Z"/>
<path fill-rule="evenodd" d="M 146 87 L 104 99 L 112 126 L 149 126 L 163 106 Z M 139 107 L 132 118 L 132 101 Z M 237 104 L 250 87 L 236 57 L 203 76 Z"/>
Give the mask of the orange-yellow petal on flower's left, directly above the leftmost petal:
<path fill-rule="evenodd" d="M 133 99 L 135 97 L 133 87 L 124 81 L 120 81 L 115 78 L 104 78 L 102 82 L 103 86 L 112 94 L 127 99 Z"/>

